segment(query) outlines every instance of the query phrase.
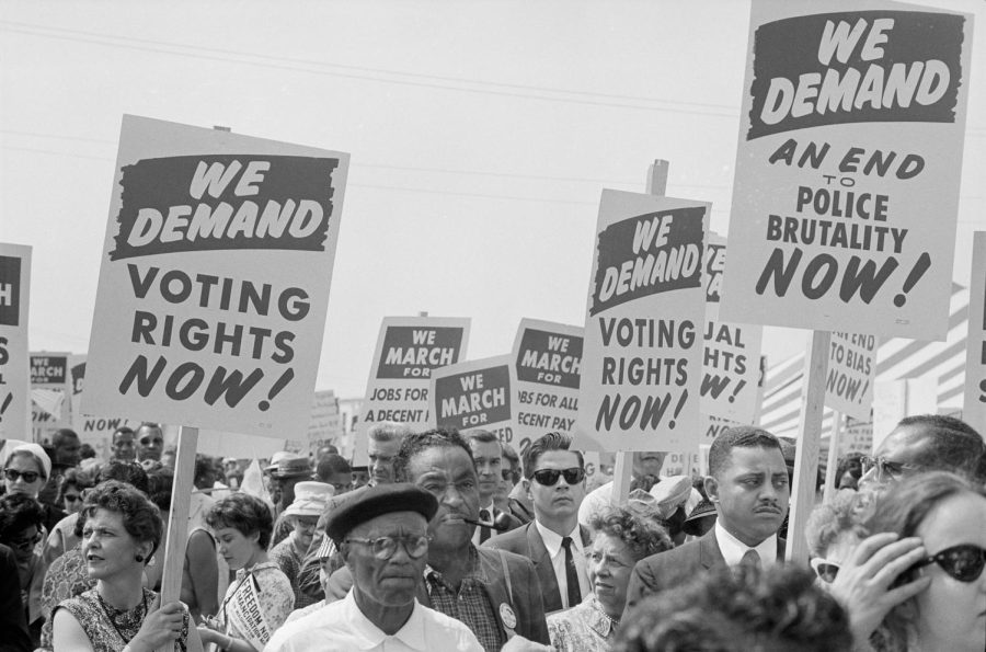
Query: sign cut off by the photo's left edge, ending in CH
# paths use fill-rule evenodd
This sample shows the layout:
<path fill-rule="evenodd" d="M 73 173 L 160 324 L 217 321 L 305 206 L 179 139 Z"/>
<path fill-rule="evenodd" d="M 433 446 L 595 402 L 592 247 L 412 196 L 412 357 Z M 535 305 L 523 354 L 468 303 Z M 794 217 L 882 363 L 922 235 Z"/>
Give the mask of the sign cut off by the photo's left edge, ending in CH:
<path fill-rule="evenodd" d="M 0 242 L 0 439 L 30 438 L 30 288 L 31 248 Z"/>

